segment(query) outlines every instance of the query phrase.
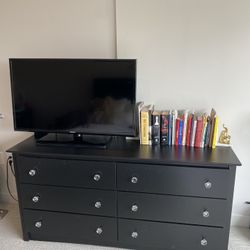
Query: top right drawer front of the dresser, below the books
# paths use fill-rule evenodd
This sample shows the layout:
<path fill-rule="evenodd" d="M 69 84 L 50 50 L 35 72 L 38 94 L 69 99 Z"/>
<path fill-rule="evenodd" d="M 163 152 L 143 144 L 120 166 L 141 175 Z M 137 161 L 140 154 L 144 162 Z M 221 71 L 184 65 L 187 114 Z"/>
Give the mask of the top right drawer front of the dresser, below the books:
<path fill-rule="evenodd" d="M 227 198 L 229 170 L 145 164 L 117 164 L 121 191 Z M 233 184 L 232 184 L 233 185 Z"/>

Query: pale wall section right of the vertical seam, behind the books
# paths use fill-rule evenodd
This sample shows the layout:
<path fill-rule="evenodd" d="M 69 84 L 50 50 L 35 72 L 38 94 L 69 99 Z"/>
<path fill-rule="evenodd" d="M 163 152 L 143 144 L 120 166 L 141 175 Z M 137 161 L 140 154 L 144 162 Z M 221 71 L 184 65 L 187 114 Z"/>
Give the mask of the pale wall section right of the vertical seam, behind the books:
<path fill-rule="evenodd" d="M 233 222 L 249 226 L 250 1 L 117 0 L 118 56 L 138 59 L 138 99 L 211 109 L 229 127 L 237 170 Z"/>

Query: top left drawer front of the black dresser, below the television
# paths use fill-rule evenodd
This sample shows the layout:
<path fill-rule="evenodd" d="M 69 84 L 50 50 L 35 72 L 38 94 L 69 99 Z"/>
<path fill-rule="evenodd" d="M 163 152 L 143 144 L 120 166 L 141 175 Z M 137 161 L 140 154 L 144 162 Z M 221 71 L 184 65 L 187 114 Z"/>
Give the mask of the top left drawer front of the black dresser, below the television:
<path fill-rule="evenodd" d="M 114 189 L 115 164 L 110 162 L 17 157 L 21 183 Z"/>

